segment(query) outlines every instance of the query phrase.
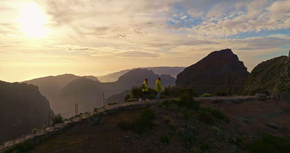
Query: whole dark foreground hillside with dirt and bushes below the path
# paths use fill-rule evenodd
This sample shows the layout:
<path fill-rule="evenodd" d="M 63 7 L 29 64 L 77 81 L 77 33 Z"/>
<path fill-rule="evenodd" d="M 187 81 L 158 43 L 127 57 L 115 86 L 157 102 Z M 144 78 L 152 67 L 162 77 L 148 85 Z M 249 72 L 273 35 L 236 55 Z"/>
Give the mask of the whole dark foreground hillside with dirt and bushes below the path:
<path fill-rule="evenodd" d="M 108 106 L 98 113 L 85 113 L 74 121 L 60 123 L 56 134 L 39 133 L 20 146 L 32 146 L 30 153 L 287 153 L 290 149 L 286 137 L 290 122 L 285 120 L 289 103 L 273 99 L 265 103 L 253 98 L 240 103 L 215 103 L 213 98 L 211 102 L 200 101 L 198 109 L 196 101 L 188 99 L 192 107 L 184 100 Z"/>

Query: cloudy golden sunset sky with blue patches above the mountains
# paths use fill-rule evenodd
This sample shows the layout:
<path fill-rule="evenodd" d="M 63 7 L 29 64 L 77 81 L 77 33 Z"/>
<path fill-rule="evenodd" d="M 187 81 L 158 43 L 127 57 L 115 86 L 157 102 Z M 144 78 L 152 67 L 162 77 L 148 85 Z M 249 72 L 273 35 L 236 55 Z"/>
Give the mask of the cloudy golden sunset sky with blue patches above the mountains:
<path fill-rule="evenodd" d="M 190 66 L 231 48 L 251 71 L 290 49 L 290 0 L 1 0 L 0 80 Z"/>

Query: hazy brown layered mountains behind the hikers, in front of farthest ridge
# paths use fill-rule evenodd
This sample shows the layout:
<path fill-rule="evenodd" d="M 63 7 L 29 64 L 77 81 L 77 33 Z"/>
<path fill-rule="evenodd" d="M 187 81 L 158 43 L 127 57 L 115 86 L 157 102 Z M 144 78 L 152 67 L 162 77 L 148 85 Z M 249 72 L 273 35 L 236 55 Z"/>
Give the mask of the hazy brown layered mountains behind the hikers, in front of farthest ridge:
<path fill-rule="evenodd" d="M 116 82 L 101 83 L 97 78 L 80 77 L 74 74 L 63 74 L 55 77 L 44 77 L 25 81 L 25 83 L 39 86 L 40 92 L 47 97 L 51 108 L 65 117 L 74 115 L 75 103 L 79 105 L 79 112 L 101 107 L 105 100 L 132 86 L 141 86 L 145 78 L 149 79 L 149 86 L 154 87 L 155 80 L 161 77 L 163 86 L 175 85 L 176 79 L 170 75 L 155 74 L 148 69 L 133 69 L 121 75 Z"/>

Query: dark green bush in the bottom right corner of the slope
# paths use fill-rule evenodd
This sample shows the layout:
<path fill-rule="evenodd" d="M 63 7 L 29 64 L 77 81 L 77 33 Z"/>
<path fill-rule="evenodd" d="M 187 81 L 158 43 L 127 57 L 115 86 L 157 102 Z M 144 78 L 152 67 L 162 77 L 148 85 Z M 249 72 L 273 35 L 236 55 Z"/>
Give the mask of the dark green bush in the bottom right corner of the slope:
<path fill-rule="evenodd" d="M 290 150 L 290 139 L 263 134 L 262 139 L 253 141 L 248 145 L 248 149 L 255 153 L 286 153 Z"/>

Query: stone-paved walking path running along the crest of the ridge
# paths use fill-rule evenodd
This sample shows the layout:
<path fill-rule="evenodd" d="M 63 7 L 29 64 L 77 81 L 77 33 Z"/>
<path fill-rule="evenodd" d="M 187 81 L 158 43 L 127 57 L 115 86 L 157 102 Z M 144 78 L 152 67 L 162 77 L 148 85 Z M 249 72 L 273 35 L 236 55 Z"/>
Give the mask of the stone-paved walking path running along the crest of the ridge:
<path fill-rule="evenodd" d="M 250 101 L 254 100 L 254 96 L 235 96 L 235 97 L 198 97 L 195 98 L 197 101 L 209 101 L 209 102 L 225 102 L 225 103 L 240 103 L 243 101 Z M 164 100 L 164 99 L 163 99 Z M 128 110 L 128 109 L 135 109 L 135 108 L 142 108 L 147 107 L 150 105 L 157 104 L 162 101 L 150 100 L 150 101 L 135 101 L 130 103 L 121 103 L 116 105 L 106 105 L 103 108 L 97 109 L 97 112 L 86 112 L 77 117 L 71 117 L 69 120 L 63 121 L 62 123 L 58 123 L 55 125 L 47 126 L 45 129 L 39 130 L 36 133 L 26 134 L 22 137 L 16 138 L 16 140 L 11 140 L 8 142 L 3 143 L 0 145 L 0 150 L 3 150 L 7 147 L 12 146 L 13 144 L 17 144 L 23 142 L 25 140 L 29 140 L 33 142 L 33 144 L 38 144 L 41 140 L 45 139 L 46 137 L 62 132 L 65 128 L 68 128 L 71 124 L 76 124 L 82 120 L 88 119 L 97 114 L 110 114 L 114 113 L 119 110 Z"/>

